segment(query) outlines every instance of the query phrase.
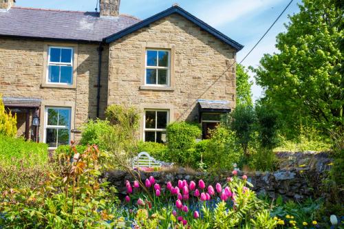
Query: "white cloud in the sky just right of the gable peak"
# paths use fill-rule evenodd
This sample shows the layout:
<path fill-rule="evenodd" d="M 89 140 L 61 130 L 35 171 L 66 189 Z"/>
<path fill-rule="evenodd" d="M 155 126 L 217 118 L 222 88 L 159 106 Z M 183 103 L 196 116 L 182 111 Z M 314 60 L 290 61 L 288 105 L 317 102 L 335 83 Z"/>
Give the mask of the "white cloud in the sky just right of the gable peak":
<path fill-rule="evenodd" d="M 200 19 L 209 25 L 218 27 L 224 23 L 235 21 L 253 12 L 275 6 L 283 0 L 226 0 L 214 1 L 209 6 L 203 6 L 197 11 Z"/>

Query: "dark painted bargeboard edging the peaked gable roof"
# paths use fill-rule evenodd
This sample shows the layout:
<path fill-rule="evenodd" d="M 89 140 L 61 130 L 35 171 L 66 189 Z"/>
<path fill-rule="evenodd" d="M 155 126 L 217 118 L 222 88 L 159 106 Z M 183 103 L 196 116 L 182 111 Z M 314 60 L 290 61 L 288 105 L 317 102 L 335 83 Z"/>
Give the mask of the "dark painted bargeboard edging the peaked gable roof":
<path fill-rule="evenodd" d="M 195 23 L 196 25 L 200 26 L 200 28 L 202 28 L 206 32 L 212 34 L 217 39 L 219 39 L 219 40 L 223 41 L 224 43 L 234 47 L 237 51 L 241 50 L 244 47 L 244 45 L 240 45 L 236 41 L 233 41 L 232 39 L 230 39 L 225 34 L 222 34 L 222 32 L 215 30 L 215 28 L 211 27 L 210 25 L 208 25 L 204 21 L 201 21 L 200 19 L 197 19 L 197 17 L 193 16 L 189 12 L 186 12 L 186 10 L 180 8 L 180 6 L 172 6 L 171 8 L 168 8 L 167 10 L 164 10 L 158 14 L 155 14 L 152 17 L 149 17 L 148 19 L 144 19 L 143 21 L 140 21 L 134 25 L 131 25 L 128 28 L 125 28 L 124 30 L 121 30 L 120 32 L 112 34 L 111 36 L 107 36 L 104 40 L 107 43 L 111 43 L 113 41 L 116 41 L 116 40 L 122 38 L 123 36 L 125 36 L 127 34 L 131 34 L 132 32 L 135 32 L 136 30 L 140 30 L 141 28 L 144 28 L 144 27 L 148 26 L 149 24 L 151 24 L 155 21 L 158 21 L 164 17 L 167 17 L 171 14 L 180 14 L 180 16 L 182 16 L 182 17 L 188 19 L 189 21 Z"/>

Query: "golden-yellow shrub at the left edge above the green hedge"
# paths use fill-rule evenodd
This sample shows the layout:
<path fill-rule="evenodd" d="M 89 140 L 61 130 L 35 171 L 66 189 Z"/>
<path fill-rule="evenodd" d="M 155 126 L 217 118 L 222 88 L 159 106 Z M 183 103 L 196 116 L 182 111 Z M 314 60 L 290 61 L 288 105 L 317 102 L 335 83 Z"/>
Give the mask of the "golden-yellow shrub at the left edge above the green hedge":
<path fill-rule="evenodd" d="M 12 116 L 5 111 L 2 95 L 0 94 L 0 135 L 14 137 L 17 134 L 17 114 Z"/>

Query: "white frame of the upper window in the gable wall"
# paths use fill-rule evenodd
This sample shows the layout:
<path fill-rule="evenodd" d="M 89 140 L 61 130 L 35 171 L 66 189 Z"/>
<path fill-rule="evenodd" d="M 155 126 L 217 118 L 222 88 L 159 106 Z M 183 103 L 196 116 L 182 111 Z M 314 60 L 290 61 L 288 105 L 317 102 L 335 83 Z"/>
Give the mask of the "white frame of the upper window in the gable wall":
<path fill-rule="evenodd" d="M 160 67 L 160 66 L 149 66 L 147 65 L 147 52 L 148 51 L 155 51 L 156 52 L 156 58 L 157 58 L 157 65 L 159 65 L 159 51 L 168 52 L 169 58 L 167 60 L 167 67 Z M 169 87 L 171 85 L 171 50 L 163 50 L 163 49 L 146 49 L 146 53 L 144 54 L 144 85 L 146 86 L 154 86 L 154 87 Z M 156 69 L 156 84 L 149 84 L 147 83 L 147 69 Z M 158 69 L 165 69 L 167 70 L 166 73 L 166 85 L 160 85 L 158 84 Z"/>

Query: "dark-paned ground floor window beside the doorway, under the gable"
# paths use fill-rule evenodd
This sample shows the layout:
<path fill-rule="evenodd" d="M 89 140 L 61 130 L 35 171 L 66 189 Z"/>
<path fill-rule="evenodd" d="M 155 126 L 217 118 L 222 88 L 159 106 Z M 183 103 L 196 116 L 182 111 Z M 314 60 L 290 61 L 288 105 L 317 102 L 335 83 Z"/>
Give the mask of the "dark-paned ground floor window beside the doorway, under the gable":
<path fill-rule="evenodd" d="M 168 110 L 144 110 L 144 141 L 166 142 L 166 126 L 168 123 Z"/>

